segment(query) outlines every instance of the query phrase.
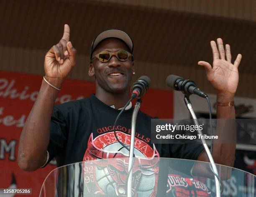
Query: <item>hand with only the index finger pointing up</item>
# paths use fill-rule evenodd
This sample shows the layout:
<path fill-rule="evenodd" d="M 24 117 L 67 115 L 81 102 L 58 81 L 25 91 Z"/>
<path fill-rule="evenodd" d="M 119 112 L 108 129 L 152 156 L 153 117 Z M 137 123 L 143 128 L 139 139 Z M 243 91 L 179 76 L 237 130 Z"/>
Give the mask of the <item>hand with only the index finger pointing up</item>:
<path fill-rule="evenodd" d="M 69 34 L 69 25 L 65 24 L 61 40 L 51 47 L 44 59 L 46 80 L 59 88 L 76 64 L 76 49 L 69 41 Z"/>

